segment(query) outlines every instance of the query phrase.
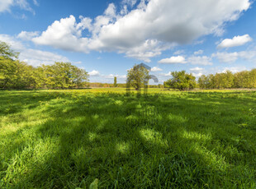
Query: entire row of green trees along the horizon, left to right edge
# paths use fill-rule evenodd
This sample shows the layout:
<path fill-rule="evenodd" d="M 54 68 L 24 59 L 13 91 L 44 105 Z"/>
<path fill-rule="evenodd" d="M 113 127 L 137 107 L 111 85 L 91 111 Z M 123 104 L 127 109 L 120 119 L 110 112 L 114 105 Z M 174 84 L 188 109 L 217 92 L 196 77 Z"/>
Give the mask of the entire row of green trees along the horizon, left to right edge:
<path fill-rule="evenodd" d="M 113 84 L 88 83 L 88 72 L 73 66 L 70 62 L 55 62 L 53 65 L 32 67 L 19 61 L 19 53 L 0 41 L 0 89 L 72 89 L 83 87 L 126 87 L 118 84 L 114 77 Z M 136 90 L 139 88 L 168 88 L 176 90 L 256 88 L 256 69 L 202 75 L 196 81 L 192 73 L 173 71 L 171 78 L 164 85 L 148 85 L 149 71 L 135 65 L 127 71 L 127 81 Z"/>

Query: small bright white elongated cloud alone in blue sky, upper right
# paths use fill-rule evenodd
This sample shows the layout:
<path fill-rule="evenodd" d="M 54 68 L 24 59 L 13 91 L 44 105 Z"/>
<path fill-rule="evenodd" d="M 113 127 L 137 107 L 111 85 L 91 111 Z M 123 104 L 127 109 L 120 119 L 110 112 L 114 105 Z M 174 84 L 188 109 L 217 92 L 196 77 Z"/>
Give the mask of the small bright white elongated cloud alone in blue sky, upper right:
<path fill-rule="evenodd" d="M 224 39 L 217 48 L 231 48 L 247 44 L 253 39 L 249 35 L 235 36 L 233 39 Z"/>

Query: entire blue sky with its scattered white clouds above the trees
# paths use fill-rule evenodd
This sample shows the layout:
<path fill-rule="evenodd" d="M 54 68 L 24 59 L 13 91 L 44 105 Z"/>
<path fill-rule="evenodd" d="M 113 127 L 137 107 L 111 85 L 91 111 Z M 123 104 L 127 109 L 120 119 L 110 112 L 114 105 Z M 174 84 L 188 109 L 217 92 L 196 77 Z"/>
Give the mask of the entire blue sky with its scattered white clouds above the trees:
<path fill-rule="evenodd" d="M 0 40 L 33 66 L 72 62 L 90 81 L 126 81 L 145 62 L 159 82 L 256 67 L 249 0 L 0 0 Z"/>

